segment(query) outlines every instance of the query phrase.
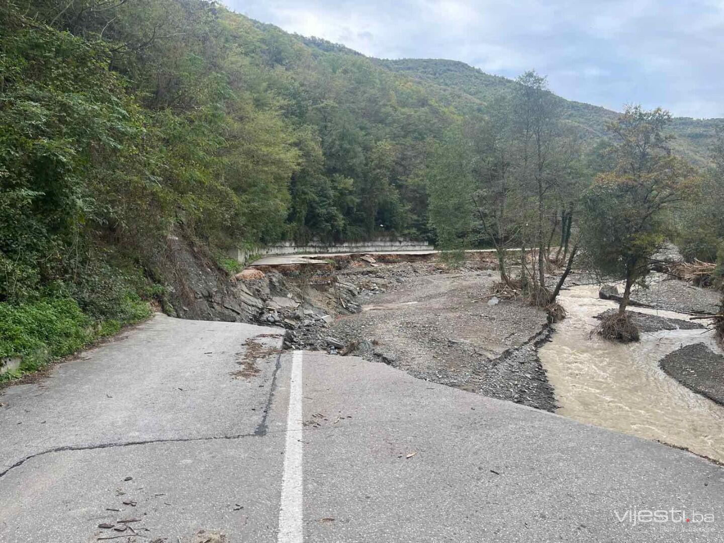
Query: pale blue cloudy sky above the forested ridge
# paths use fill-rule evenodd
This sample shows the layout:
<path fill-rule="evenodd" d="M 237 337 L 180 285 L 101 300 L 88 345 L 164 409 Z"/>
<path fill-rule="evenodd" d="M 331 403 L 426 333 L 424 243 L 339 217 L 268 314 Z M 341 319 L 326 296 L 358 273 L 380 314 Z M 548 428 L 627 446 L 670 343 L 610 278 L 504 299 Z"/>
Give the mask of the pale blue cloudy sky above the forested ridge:
<path fill-rule="evenodd" d="M 724 0 L 224 0 L 384 59 L 460 60 L 615 111 L 724 117 Z"/>

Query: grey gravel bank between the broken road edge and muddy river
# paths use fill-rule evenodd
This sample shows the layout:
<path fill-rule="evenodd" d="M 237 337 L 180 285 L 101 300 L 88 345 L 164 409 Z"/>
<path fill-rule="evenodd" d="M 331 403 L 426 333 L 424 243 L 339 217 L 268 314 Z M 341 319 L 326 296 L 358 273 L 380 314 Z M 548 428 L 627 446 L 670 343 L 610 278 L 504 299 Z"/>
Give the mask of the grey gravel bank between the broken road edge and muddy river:
<path fill-rule="evenodd" d="M 546 313 L 497 300 L 497 272 L 410 264 L 340 274 L 361 289 L 363 311 L 340 316 L 329 335 L 345 351 L 383 361 L 419 379 L 552 411 L 552 388 L 537 356 Z M 357 277 L 353 277 L 353 276 Z M 374 286 L 371 286 L 373 284 Z"/>

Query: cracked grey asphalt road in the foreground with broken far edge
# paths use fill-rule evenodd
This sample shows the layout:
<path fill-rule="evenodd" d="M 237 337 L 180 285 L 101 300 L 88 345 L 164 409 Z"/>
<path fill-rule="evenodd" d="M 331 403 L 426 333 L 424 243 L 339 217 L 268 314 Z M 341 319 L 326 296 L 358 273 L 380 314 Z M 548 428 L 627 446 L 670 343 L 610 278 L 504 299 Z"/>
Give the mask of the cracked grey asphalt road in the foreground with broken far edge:
<path fill-rule="evenodd" d="M 724 541 L 707 460 L 280 344 L 156 316 L 5 390 L 0 542 Z"/>

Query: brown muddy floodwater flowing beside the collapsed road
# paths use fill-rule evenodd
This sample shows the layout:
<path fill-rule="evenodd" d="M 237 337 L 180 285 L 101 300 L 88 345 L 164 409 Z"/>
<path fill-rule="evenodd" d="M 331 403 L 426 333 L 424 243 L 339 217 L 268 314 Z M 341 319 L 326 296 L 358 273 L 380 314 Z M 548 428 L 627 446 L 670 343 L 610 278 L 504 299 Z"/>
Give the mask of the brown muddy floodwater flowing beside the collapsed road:
<path fill-rule="evenodd" d="M 561 292 L 559 301 L 568 318 L 555 325 L 552 342 L 539 350 L 560 405 L 557 413 L 724 461 L 724 407 L 691 392 L 659 367 L 665 355 L 691 343 L 706 343 L 720 353 L 712 332 L 662 330 L 620 345 L 590 337 L 599 322 L 594 316 L 616 306 L 599 300 L 598 287 L 573 287 Z M 689 319 L 673 311 L 635 310 Z"/>

